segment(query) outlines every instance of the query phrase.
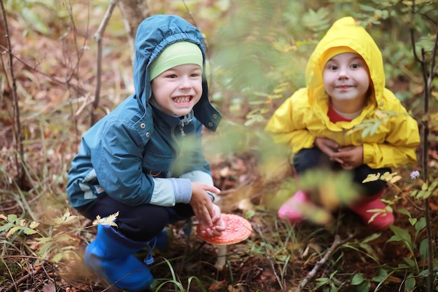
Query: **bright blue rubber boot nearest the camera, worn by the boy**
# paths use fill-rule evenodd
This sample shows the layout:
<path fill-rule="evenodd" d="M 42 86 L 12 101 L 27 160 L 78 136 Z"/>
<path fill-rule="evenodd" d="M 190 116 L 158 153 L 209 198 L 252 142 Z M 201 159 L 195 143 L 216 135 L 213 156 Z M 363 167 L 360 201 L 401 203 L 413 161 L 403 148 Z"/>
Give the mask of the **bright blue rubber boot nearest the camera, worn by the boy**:
<path fill-rule="evenodd" d="M 96 239 L 85 249 L 84 262 L 116 288 L 144 291 L 153 284 L 153 275 L 148 266 L 133 255 L 147 244 L 132 241 L 110 225 L 99 224 Z"/>

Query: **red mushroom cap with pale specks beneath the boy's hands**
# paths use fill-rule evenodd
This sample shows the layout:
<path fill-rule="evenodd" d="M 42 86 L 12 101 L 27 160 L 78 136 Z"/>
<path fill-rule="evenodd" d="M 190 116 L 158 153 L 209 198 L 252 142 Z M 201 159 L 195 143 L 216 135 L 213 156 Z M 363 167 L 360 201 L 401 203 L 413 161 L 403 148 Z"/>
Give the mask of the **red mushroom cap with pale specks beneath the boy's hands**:
<path fill-rule="evenodd" d="M 209 237 L 209 235 L 202 235 L 201 225 L 197 227 L 198 236 L 210 244 L 216 245 L 228 245 L 242 242 L 247 239 L 253 228 L 251 223 L 245 218 L 235 214 L 222 214 L 222 220 L 225 223 L 225 230 L 222 231 L 222 235 L 216 237 Z"/>

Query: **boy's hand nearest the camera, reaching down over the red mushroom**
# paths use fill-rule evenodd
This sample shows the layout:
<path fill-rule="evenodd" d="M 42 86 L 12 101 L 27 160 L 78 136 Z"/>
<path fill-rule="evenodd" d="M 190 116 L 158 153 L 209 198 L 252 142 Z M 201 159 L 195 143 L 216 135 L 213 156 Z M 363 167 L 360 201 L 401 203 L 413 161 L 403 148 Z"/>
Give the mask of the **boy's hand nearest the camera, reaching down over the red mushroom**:
<path fill-rule="evenodd" d="M 220 214 L 215 214 L 213 202 L 211 202 L 207 190 L 215 194 L 220 193 L 220 190 L 214 186 L 210 186 L 206 183 L 192 182 L 192 198 L 190 199 L 190 205 L 192 206 L 193 212 L 195 212 L 195 216 L 198 218 L 199 223 L 206 225 L 209 228 L 213 228 L 213 222 L 220 218 Z"/>

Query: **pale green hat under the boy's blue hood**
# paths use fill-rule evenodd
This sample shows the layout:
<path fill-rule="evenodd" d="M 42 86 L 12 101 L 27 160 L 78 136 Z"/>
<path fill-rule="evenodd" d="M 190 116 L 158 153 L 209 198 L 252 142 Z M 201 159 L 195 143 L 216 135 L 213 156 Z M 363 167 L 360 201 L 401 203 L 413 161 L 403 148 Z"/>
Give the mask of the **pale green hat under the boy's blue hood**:
<path fill-rule="evenodd" d="M 197 64 L 202 69 L 201 49 L 190 41 L 178 41 L 167 46 L 150 64 L 150 80 L 164 71 L 183 64 Z"/>

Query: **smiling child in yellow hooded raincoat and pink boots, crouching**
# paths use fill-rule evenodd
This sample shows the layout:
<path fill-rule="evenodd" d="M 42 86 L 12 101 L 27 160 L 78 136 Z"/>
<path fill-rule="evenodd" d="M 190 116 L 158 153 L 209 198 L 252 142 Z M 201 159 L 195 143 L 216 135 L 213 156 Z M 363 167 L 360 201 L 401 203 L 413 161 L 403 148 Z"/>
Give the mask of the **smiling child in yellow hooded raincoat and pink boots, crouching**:
<path fill-rule="evenodd" d="M 358 126 L 372 119 L 381 119 L 376 132 L 362 135 L 364 127 Z M 306 88 L 278 107 L 265 130 L 290 148 L 298 179 L 309 170 L 346 169 L 361 192 L 348 207 L 374 230 L 393 224 L 393 213 L 380 199 L 386 182 L 362 181 L 415 162 L 418 125 L 385 88 L 381 52 L 353 18 L 334 22 L 309 58 Z M 300 204 L 313 204 L 312 197 L 297 191 L 278 216 L 299 223 Z M 382 211 L 376 215 L 376 209 Z"/>

